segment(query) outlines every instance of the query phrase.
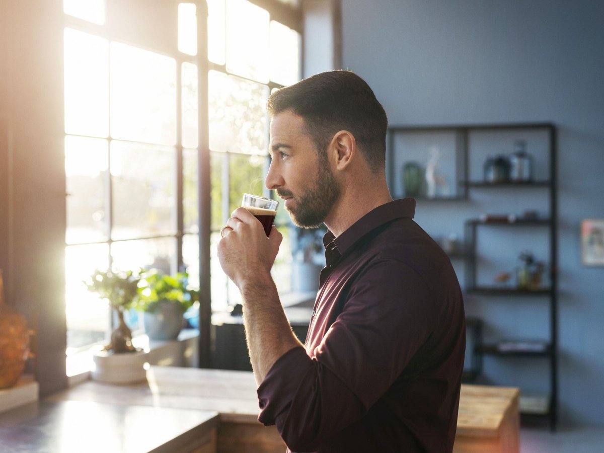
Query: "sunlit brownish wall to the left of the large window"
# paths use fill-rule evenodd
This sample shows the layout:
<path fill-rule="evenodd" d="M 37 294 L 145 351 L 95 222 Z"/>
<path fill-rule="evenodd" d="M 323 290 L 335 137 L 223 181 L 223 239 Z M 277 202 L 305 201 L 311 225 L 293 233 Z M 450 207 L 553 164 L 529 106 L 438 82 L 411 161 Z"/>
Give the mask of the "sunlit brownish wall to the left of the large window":
<path fill-rule="evenodd" d="M 0 264 L 7 301 L 36 333 L 45 396 L 67 382 L 62 2 L 2 1 L 0 18 L 0 116 L 9 139 L 0 152 L 0 173 L 8 175 Z"/>

